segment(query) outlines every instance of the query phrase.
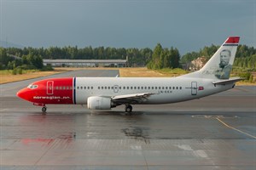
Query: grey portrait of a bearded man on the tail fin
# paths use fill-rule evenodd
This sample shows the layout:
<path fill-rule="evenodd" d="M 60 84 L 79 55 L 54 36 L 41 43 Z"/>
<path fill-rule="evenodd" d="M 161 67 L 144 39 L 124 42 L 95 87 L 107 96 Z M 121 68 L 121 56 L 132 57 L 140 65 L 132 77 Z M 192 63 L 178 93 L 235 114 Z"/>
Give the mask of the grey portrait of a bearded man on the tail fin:
<path fill-rule="evenodd" d="M 219 79 L 229 79 L 230 72 L 232 71 L 232 65 L 230 65 L 231 51 L 224 49 L 220 52 L 220 63 L 218 64 L 219 70 L 216 71 L 215 76 Z"/>

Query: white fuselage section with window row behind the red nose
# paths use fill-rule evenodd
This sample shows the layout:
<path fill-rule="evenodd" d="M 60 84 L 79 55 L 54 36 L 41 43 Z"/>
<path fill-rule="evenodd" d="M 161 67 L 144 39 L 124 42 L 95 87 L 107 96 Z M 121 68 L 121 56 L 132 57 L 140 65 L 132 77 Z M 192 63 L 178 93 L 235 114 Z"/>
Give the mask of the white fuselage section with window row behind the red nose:
<path fill-rule="evenodd" d="M 75 103 L 85 105 L 90 96 L 119 96 L 125 94 L 153 94 L 138 104 L 168 104 L 199 99 L 228 90 L 234 83 L 213 85 L 212 79 L 76 77 Z"/>

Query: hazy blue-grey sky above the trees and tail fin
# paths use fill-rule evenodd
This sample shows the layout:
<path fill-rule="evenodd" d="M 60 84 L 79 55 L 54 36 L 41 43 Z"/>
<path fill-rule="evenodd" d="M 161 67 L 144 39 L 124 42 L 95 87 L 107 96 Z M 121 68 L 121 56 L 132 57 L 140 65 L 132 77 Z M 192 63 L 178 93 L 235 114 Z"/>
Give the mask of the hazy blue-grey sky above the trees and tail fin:
<path fill-rule="evenodd" d="M 0 0 L 2 41 L 22 46 L 178 48 L 226 37 L 256 47 L 256 0 Z"/>

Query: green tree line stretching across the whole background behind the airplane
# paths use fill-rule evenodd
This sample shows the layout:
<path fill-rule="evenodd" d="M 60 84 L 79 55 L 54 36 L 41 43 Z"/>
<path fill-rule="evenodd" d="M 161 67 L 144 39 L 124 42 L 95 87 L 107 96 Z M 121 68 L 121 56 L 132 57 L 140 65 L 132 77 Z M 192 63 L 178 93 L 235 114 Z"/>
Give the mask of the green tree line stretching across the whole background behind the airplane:
<path fill-rule="evenodd" d="M 199 52 L 180 56 L 177 48 L 162 48 L 160 43 L 151 48 L 92 48 L 50 47 L 50 48 L 0 48 L 0 69 L 44 69 L 43 59 L 126 59 L 129 66 L 145 66 L 149 69 L 177 68 L 180 63 L 188 63 L 205 56 L 209 59 L 219 46 L 212 44 Z M 17 56 L 18 58 L 15 58 Z M 235 66 L 256 67 L 256 48 L 239 45 L 236 52 Z"/>

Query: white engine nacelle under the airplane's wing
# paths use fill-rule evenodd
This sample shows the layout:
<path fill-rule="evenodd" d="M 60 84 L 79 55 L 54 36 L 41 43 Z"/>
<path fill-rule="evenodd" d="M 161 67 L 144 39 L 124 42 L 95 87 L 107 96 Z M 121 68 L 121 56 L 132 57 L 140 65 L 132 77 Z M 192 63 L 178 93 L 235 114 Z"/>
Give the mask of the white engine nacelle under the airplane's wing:
<path fill-rule="evenodd" d="M 91 110 L 110 110 L 111 99 L 99 96 L 92 96 L 87 99 L 87 107 Z"/>

